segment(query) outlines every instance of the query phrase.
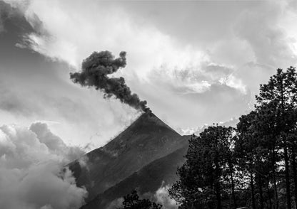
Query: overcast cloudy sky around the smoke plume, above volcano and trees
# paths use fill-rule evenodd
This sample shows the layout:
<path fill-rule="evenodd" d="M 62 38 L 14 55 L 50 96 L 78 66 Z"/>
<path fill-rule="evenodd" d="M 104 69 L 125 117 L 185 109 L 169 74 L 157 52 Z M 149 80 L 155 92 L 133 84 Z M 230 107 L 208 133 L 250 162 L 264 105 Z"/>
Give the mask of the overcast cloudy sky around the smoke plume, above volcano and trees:
<path fill-rule="evenodd" d="M 0 125 L 43 122 L 102 146 L 140 112 L 69 79 L 94 51 L 127 52 L 123 76 L 174 129 L 226 122 L 297 63 L 297 2 L 0 1 Z"/>

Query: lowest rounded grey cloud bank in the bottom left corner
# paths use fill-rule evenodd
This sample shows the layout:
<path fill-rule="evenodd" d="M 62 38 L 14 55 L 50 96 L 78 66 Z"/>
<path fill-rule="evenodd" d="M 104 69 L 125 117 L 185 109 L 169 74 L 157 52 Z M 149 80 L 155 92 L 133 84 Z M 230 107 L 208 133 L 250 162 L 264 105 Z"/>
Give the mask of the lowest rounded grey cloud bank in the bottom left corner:
<path fill-rule="evenodd" d="M 4 173 L 11 178 L 5 179 L 1 208 L 79 208 L 84 203 L 86 190 L 76 187 L 71 171 L 60 172 L 61 166 L 50 162 L 30 166 L 27 173 Z"/>

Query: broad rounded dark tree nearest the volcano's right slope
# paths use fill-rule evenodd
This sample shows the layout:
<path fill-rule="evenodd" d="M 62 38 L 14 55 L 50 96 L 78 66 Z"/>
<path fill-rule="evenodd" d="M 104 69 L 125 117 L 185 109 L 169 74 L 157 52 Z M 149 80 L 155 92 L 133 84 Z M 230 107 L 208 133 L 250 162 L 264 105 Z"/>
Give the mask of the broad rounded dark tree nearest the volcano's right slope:
<path fill-rule="evenodd" d="M 213 126 L 191 137 L 186 163 L 178 168 L 180 181 L 169 190 L 180 208 L 230 207 L 230 195 L 235 207 L 233 132 L 231 127 Z"/>

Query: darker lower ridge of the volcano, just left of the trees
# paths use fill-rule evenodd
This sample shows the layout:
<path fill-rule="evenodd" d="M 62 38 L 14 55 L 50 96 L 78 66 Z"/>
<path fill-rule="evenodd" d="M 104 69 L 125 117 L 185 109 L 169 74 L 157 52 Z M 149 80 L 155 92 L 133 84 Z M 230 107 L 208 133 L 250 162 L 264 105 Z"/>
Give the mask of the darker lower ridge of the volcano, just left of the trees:
<path fill-rule="evenodd" d="M 181 149 L 173 151 L 167 156 L 156 159 L 131 176 L 109 188 L 104 193 L 97 195 L 82 209 L 108 208 L 112 201 L 131 193 L 137 188 L 139 194 L 155 193 L 160 186 L 171 184 L 178 180 L 176 169 L 184 162 L 183 156 L 188 149 L 188 139 L 190 136 L 183 136 L 185 145 Z"/>

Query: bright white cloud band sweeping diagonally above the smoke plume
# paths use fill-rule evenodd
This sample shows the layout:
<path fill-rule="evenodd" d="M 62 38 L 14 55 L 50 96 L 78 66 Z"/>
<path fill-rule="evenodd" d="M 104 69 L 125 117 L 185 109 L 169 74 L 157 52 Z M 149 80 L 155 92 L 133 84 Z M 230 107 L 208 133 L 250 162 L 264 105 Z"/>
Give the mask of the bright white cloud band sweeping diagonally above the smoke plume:
<path fill-rule="evenodd" d="M 169 75 L 161 74 L 163 77 L 159 80 L 166 82 L 171 79 L 171 83 L 178 82 L 178 87 L 189 92 L 204 92 L 211 85 L 208 83 L 211 77 L 201 82 L 191 80 L 191 77 L 180 80 L 174 76 L 175 71 L 204 72 L 202 65 L 213 63 L 208 53 L 191 45 L 179 44 L 158 28 L 137 22 L 114 4 L 31 1 L 26 18 L 38 33 L 25 36 L 23 44 L 54 60 L 66 61 L 76 70 L 79 70 L 81 60 L 94 50 L 114 53 L 126 50 L 129 69 L 124 74 L 128 77 L 127 74 L 136 73 L 147 80 L 148 73 L 155 69 L 165 70 Z M 238 85 L 231 87 L 237 88 Z M 241 90 L 243 86 L 239 88 Z"/>

